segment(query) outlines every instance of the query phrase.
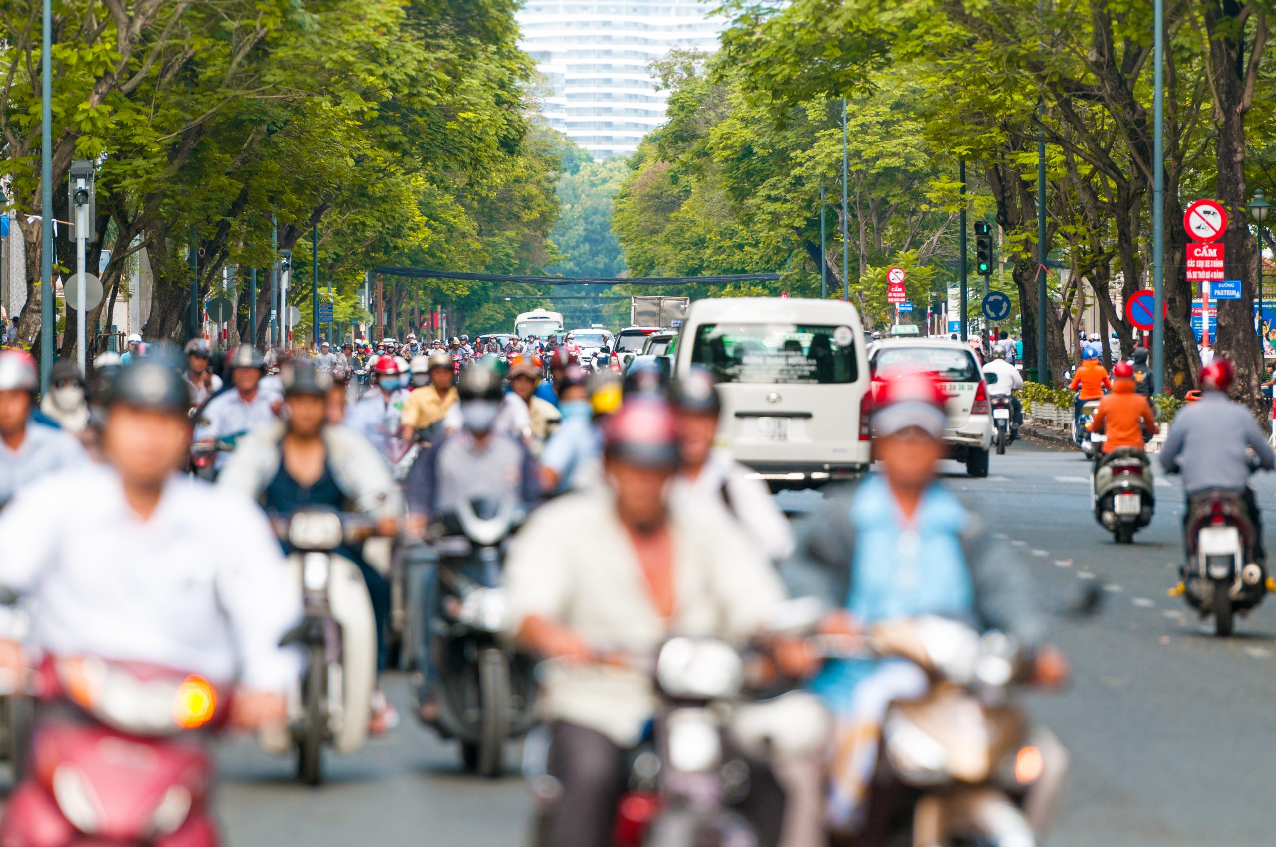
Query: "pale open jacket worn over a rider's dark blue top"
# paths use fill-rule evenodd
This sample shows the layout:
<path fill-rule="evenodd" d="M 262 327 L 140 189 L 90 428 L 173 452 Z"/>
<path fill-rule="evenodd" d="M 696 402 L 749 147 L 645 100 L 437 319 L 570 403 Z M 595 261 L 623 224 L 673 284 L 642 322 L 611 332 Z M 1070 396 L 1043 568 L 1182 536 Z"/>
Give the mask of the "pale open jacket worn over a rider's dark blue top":
<path fill-rule="evenodd" d="M 260 500 L 271 480 L 279 472 L 279 441 L 283 440 L 287 426 L 286 422 L 277 421 L 240 439 L 235 453 L 217 477 L 217 485 Z M 375 518 L 398 518 L 403 514 L 403 495 L 385 459 L 367 439 L 343 426 L 325 426 L 323 443 L 337 487 L 350 499 L 355 512 Z"/>

